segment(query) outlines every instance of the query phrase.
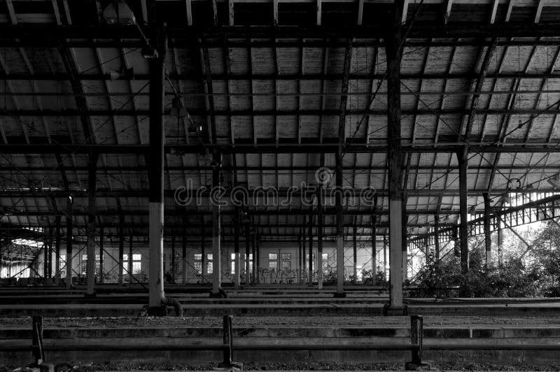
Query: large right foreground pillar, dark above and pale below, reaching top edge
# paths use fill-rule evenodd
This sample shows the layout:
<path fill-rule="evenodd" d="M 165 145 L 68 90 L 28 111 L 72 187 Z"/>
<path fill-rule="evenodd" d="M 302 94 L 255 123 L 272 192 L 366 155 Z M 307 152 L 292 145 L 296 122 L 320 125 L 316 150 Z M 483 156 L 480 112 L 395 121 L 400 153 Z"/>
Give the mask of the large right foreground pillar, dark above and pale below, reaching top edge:
<path fill-rule="evenodd" d="M 389 177 L 389 303 L 391 314 L 402 313 L 402 153 L 400 149 L 400 62 L 402 31 L 400 24 L 405 1 L 395 1 L 393 29 L 385 38 L 387 55 L 387 145 Z"/>

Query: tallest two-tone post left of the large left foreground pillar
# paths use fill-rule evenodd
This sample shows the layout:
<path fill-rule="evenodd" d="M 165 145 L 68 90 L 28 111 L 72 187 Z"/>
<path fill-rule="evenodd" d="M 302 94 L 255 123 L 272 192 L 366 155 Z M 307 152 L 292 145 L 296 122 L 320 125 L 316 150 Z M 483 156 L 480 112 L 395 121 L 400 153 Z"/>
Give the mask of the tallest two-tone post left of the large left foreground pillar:
<path fill-rule="evenodd" d="M 95 189 L 97 188 L 97 155 L 92 152 L 90 153 L 88 168 L 87 206 L 89 212 L 87 214 L 87 287 L 85 296 L 95 296 Z"/>

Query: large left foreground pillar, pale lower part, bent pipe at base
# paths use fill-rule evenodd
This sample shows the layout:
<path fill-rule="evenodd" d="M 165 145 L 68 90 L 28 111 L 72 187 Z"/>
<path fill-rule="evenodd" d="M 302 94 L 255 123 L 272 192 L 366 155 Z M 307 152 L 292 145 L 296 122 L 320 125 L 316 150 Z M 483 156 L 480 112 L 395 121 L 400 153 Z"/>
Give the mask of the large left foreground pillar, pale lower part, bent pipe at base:
<path fill-rule="evenodd" d="M 164 101 L 165 90 L 165 56 L 167 55 L 167 38 L 163 30 L 156 31 L 153 46 L 158 49 L 158 58 L 149 61 L 150 73 L 150 158 L 148 178 L 150 183 L 149 197 L 149 231 L 150 264 L 148 267 L 149 295 L 148 306 L 161 307 L 165 298 L 163 279 L 163 175 L 164 175 Z M 154 45 L 155 44 L 155 45 Z M 157 311 L 157 310 L 156 310 Z"/>

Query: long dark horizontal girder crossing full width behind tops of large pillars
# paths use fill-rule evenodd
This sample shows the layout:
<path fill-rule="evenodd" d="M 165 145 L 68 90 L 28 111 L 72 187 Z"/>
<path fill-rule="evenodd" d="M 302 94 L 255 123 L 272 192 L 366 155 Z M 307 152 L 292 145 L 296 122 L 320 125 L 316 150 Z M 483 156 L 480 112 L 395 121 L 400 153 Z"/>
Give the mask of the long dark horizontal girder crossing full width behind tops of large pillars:
<path fill-rule="evenodd" d="M 384 38 L 386 24 L 325 27 L 325 26 L 218 26 L 218 27 L 169 27 L 167 36 L 183 45 L 187 41 L 195 42 L 197 38 Z M 144 25 L 144 34 L 151 38 L 155 29 Z M 544 37 L 559 36 L 560 23 L 547 24 L 485 24 L 482 22 L 453 22 L 452 24 L 434 24 L 416 21 L 407 33 L 407 38 L 491 38 L 491 37 Z M 127 39 L 143 45 L 139 31 L 135 27 L 120 25 L 67 25 L 53 24 L 2 24 L 0 25 L 0 45 L 13 43 L 19 38 L 25 45 L 45 46 L 61 39 Z"/>

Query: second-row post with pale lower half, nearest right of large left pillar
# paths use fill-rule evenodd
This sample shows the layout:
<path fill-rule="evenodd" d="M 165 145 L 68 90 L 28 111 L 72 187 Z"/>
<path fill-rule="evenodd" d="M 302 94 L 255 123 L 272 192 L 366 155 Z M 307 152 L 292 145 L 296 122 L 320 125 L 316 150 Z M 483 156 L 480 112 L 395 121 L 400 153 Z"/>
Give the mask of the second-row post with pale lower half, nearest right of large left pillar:
<path fill-rule="evenodd" d="M 212 188 L 217 189 L 221 185 L 220 180 L 221 155 L 214 153 L 212 160 Z M 222 252 L 220 247 L 221 218 L 220 205 L 214 201 L 212 205 L 212 296 L 220 296 L 221 274 L 222 274 Z"/>

